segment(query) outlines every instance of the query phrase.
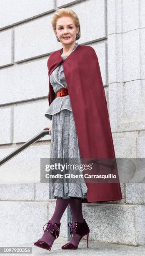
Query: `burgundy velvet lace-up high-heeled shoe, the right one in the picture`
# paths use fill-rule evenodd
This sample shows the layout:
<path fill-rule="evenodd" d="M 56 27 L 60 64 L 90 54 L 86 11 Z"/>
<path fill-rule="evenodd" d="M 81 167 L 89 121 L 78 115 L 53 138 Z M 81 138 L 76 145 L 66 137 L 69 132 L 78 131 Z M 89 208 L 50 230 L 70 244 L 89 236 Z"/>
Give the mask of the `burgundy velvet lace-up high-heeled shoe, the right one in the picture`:
<path fill-rule="evenodd" d="M 80 240 L 84 237 L 87 236 L 87 248 L 89 247 L 89 233 L 90 229 L 84 219 L 84 222 L 75 222 L 75 224 L 72 223 L 67 223 L 68 227 L 70 227 L 70 235 L 75 235 L 79 234 L 81 237 L 79 239 L 78 245 L 80 243 Z M 72 243 L 66 243 L 65 245 L 62 246 L 62 250 L 75 250 L 77 249 L 77 246 L 74 246 Z"/>

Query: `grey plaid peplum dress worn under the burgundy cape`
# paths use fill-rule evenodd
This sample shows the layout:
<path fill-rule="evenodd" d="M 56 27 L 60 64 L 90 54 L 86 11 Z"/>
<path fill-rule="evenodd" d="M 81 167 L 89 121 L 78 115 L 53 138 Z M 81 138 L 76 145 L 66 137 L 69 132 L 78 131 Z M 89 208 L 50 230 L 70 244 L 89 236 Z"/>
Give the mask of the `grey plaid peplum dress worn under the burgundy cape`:
<path fill-rule="evenodd" d="M 79 44 L 76 43 L 71 53 L 75 51 Z M 70 53 L 70 54 L 71 54 Z M 66 59 L 67 56 L 63 56 Z M 52 84 L 55 94 L 61 89 L 66 88 L 65 75 L 63 72 L 63 64 L 61 63 L 50 75 L 50 83 Z M 74 84 L 75 85 L 75 84 Z M 51 128 L 51 146 L 50 159 L 69 159 L 67 164 L 81 164 L 80 148 L 77 140 L 77 132 L 75 121 L 73 118 L 70 96 L 55 97 L 45 113 L 45 117 L 52 120 Z M 62 164 L 61 162 L 61 164 Z M 52 161 L 50 162 L 52 163 Z M 55 162 L 54 162 L 55 163 Z M 66 161 L 63 162 L 65 164 Z M 50 174 L 53 171 L 50 171 Z M 82 174 L 79 170 L 63 170 L 63 179 L 49 179 L 49 199 L 54 198 L 87 198 L 87 186 L 84 178 L 66 179 L 65 174 Z"/>

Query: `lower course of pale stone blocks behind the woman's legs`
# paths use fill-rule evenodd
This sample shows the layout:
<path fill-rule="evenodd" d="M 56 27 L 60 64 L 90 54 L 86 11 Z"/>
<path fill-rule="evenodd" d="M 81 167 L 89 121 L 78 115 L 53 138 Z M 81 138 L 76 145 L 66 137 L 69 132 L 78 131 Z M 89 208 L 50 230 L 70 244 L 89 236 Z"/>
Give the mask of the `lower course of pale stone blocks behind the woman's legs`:
<path fill-rule="evenodd" d="M 124 196 L 121 202 L 82 204 L 83 217 L 90 228 L 90 240 L 145 245 L 145 204 L 144 201 L 140 204 L 135 201 L 132 188 L 135 198 L 145 194 L 144 186 L 137 186 L 137 190 L 131 186 L 132 201 L 127 201 Z M 0 184 L 1 246 L 37 241 L 42 236 L 43 225 L 52 217 L 56 203 L 47 197 L 48 184 Z M 67 238 L 67 209 L 60 222 L 60 237 Z"/>

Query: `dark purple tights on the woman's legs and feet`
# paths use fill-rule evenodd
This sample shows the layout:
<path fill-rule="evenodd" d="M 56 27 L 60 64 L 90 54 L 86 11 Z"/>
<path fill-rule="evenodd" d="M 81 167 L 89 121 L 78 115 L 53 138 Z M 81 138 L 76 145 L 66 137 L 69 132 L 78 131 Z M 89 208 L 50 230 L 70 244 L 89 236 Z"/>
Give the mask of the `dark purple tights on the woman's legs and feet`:
<path fill-rule="evenodd" d="M 75 223 L 75 221 L 78 221 L 78 222 L 84 221 L 84 218 L 82 215 L 82 200 L 71 197 L 68 199 L 57 198 L 55 211 L 52 215 L 52 218 L 50 219 L 51 223 L 60 223 L 62 215 L 65 212 L 65 209 L 67 208 L 68 204 L 70 204 L 73 223 Z M 74 246 L 77 246 L 79 238 L 80 238 L 80 235 L 75 234 L 71 238 L 70 242 L 73 243 Z M 39 240 L 46 242 L 48 245 L 51 245 L 52 242 L 55 240 L 55 238 L 50 232 L 44 232 L 43 236 Z"/>

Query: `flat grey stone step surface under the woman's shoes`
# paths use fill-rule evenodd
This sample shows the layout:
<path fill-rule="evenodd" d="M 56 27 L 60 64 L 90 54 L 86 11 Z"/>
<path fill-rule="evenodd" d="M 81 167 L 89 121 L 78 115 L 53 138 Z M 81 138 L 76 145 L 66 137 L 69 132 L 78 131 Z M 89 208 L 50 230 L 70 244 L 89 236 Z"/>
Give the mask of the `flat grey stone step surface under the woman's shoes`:
<path fill-rule="evenodd" d="M 145 245 L 143 246 L 128 246 L 115 243 L 103 243 L 89 240 L 89 248 L 87 248 L 86 239 L 80 241 L 77 250 L 62 250 L 61 246 L 67 243 L 67 238 L 57 238 L 51 248 L 51 251 L 47 251 L 42 248 L 34 246 L 34 242 L 16 245 L 16 247 L 32 247 L 32 254 L 18 254 L 22 256 L 38 256 L 38 255 L 87 255 L 87 256 L 143 256 L 145 255 Z M 16 254 L 2 254 L 5 256 L 16 256 Z"/>

